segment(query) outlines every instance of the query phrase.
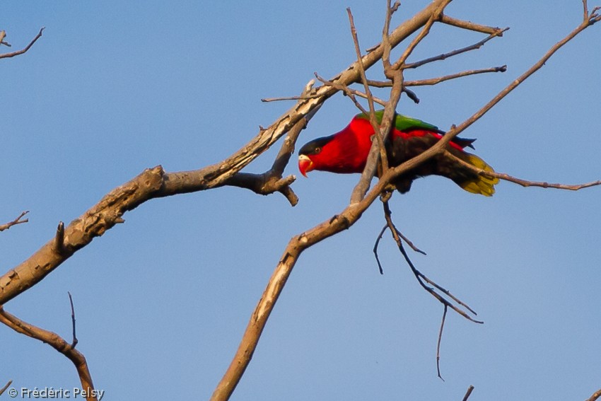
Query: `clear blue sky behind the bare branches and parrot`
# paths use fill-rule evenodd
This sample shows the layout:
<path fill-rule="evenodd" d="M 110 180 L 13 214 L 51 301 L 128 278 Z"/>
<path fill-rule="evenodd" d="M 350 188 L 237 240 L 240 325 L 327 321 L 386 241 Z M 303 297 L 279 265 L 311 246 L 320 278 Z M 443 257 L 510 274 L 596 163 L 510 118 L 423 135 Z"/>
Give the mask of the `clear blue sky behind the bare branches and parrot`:
<path fill-rule="evenodd" d="M 367 4 L 369 3 L 369 4 Z M 406 1 L 399 23 L 427 4 Z M 591 8 L 596 4 L 591 3 Z M 317 71 L 334 76 L 379 42 L 385 1 L 103 1 L 4 4 L 12 50 L 45 26 L 27 54 L 1 60 L 0 234 L 3 271 L 52 238 L 109 190 L 157 164 L 192 170 L 238 150 L 292 103 Z M 398 111 L 448 128 L 482 107 L 580 23 L 579 0 L 455 1 L 447 13 L 494 26 L 502 38 L 407 79 L 507 64 L 416 88 Z M 496 170 L 531 180 L 601 178 L 598 90 L 601 27 L 593 26 L 462 134 Z M 482 35 L 436 25 L 412 60 Z M 3 48 L 6 51 L 6 48 Z M 368 76 L 378 78 L 377 70 Z M 380 93 L 383 97 L 385 93 Z M 342 129 L 356 113 L 327 101 L 299 144 Z M 271 165 L 276 150 L 245 171 Z M 296 163 L 286 173 L 298 175 Z M 238 347 L 288 239 L 342 210 L 358 177 L 311 173 L 300 197 L 236 188 L 156 199 L 6 304 L 70 338 L 105 400 L 207 399 Z M 436 377 L 442 307 L 416 283 L 385 236 L 380 276 L 374 204 L 349 231 L 303 253 L 233 400 L 582 400 L 601 388 L 601 190 L 561 192 L 502 182 L 477 197 L 442 178 L 391 202 L 397 226 L 428 256 L 422 272 L 477 310 L 484 325 L 449 313 L 443 382 Z M 74 388 L 57 351 L 0 327 L 0 385 Z M 6 397 L 6 396 L 5 396 Z"/>

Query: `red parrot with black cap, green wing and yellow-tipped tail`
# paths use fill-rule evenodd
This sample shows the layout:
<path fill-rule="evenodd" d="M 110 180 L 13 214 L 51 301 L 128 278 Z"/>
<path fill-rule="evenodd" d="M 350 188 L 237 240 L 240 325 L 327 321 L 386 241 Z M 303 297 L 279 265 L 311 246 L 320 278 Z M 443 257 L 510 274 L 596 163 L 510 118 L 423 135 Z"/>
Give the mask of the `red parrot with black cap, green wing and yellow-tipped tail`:
<path fill-rule="evenodd" d="M 376 118 L 381 124 L 384 110 L 376 112 Z M 364 114 L 356 115 L 351 123 L 342 131 L 330 136 L 314 139 L 298 151 L 298 170 L 306 177 L 311 170 L 329 171 L 332 173 L 361 173 L 365 168 L 371 147 L 373 127 L 369 117 Z M 430 148 L 445 134 L 435 125 L 404 115 L 395 115 L 393 127 L 386 141 L 388 165 L 395 167 Z M 475 139 L 455 137 L 447 145 L 447 150 L 477 168 L 494 171 L 482 158 L 467 153 L 467 146 L 474 148 Z M 404 194 L 411 189 L 413 180 L 426 175 L 442 175 L 450 178 L 467 192 L 483 194 L 487 197 L 494 194 L 494 185 L 498 178 L 488 178 L 469 170 L 461 163 L 439 154 L 421 163 L 416 168 L 399 175 L 392 184 Z"/>

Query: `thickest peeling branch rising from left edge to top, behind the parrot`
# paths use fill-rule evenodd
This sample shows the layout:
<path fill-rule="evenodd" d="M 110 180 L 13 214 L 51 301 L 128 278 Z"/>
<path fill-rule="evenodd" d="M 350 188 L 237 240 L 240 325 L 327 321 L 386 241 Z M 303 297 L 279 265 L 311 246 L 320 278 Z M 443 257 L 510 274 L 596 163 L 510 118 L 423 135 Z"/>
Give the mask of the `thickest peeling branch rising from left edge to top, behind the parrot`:
<path fill-rule="evenodd" d="M 406 37 L 418 30 L 428 21 L 432 11 L 442 0 L 433 1 L 422 11 L 397 26 L 390 34 L 390 45 L 396 46 Z M 363 56 L 363 65 L 368 68 L 378 62 L 383 54 L 382 45 Z M 349 85 L 359 79 L 357 62 L 351 64 L 334 78 L 332 82 Z M 9 269 L 0 277 L 0 305 L 27 291 L 40 282 L 44 277 L 67 260 L 77 250 L 85 247 L 93 238 L 102 236 L 107 230 L 122 223 L 122 215 L 140 204 L 158 197 L 168 197 L 175 194 L 209 190 L 224 184 L 242 168 L 255 160 L 261 153 L 269 149 L 281 136 L 284 136 L 294 124 L 308 113 L 321 105 L 329 97 L 337 93 L 332 86 L 314 88 L 306 95 L 316 98 L 299 100 L 284 115 L 276 119 L 267 129 L 259 134 L 220 163 L 209 165 L 199 170 L 166 173 L 159 165 L 144 170 L 129 182 L 115 188 L 100 199 L 82 216 L 71 221 L 64 229 L 64 252 L 60 255 L 53 250 L 54 238 L 33 253 L 25 262 Z"/>

